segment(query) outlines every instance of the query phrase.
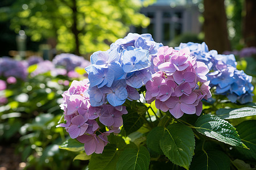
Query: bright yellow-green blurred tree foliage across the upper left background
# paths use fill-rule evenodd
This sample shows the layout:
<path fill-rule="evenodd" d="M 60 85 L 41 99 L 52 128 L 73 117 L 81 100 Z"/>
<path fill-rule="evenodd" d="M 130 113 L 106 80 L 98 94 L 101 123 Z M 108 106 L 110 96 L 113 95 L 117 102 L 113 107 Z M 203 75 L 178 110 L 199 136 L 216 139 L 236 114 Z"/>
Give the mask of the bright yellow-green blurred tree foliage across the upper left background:
<path fill-rule="evenodd" d="M 86 54 L 106 50 L 130 25 L 146 27 L 150 20 L 138 13 L 140 7 L 137 0 L 19 0 L 2 2 L 0 20 L 10 20 L 15 33 L 24 29 L 32 41 L 57 37 L 63 52 L 75 51 L 77 33 L 80 53 Z"/>

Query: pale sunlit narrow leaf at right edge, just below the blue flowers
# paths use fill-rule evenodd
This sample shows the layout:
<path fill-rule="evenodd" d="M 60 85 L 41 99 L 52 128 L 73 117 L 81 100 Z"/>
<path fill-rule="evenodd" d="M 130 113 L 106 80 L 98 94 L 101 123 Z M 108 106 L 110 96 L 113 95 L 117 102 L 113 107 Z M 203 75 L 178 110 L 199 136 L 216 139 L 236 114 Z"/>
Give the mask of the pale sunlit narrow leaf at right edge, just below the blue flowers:
<path fill-rule="evenodd" d="M 216 115 L 222 119 L 240 118 L 256 115 L 256 108 L 218 109 Z"/>

